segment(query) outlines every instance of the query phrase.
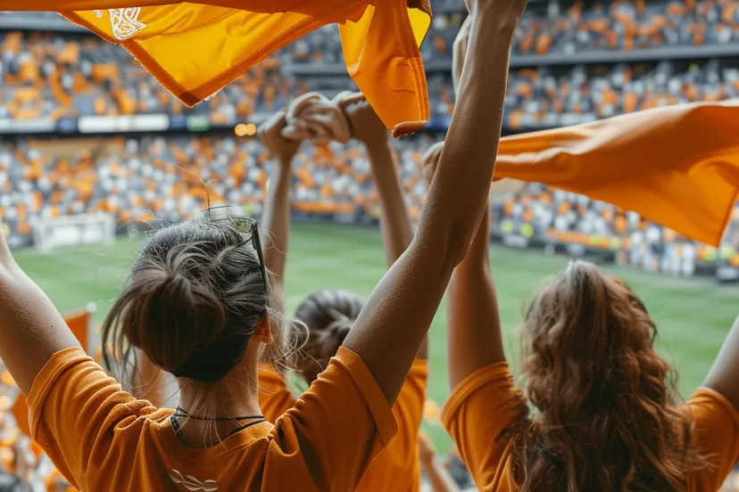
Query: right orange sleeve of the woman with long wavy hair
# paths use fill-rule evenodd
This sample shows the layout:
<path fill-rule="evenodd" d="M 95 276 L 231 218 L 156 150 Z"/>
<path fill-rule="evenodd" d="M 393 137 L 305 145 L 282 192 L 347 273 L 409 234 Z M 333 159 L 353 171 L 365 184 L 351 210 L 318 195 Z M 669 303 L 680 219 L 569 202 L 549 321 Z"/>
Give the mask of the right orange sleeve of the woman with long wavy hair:
<path fill-rule="evenodd" d="M 698 389 L 687 401 L 695 419 L 694 439 L 711 463 L 690 478 L 691 490 L 718 490 L 739 461 L 739 412 L 713 389 Z"/>

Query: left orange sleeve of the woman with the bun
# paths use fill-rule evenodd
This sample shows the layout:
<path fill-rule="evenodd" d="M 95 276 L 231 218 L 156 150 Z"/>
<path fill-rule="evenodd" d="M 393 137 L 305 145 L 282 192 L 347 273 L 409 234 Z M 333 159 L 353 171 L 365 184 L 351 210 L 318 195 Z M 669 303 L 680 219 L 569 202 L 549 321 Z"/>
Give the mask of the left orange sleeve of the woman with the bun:
<path fill-rule="evenodd" d="M 121 390 L 81 348 L 66 348 L 49 359 L 31 386 L 31 438 L 82 489 L 87 469 L 108 455 L 115 425 L 150 405 Z"/>

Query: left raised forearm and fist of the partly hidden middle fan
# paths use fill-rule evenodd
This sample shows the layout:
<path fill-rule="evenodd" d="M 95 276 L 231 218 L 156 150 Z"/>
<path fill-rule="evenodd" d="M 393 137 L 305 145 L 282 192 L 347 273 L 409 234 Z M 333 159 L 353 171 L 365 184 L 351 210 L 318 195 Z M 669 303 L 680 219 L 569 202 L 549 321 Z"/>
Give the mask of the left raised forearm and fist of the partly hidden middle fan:
<path fill-rule="evenodd" d="M 262 213 L 264 266 L 270 272 L 270 283 L 280 298 L 285 285 L 285 262 L 290 237 L 291 166 L 301 143 L 281 135 L 285 126 L 285 111 L 278 111 L 259 128 L 262 143 L 271 153 L 274 162 L 270 189 Z"/>

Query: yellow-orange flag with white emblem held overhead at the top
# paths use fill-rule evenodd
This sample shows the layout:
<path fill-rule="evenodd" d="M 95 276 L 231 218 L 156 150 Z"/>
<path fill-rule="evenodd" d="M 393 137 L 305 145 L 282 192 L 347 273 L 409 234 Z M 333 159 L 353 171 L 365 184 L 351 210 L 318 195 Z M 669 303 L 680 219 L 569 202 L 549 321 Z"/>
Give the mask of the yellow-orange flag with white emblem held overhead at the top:
<path fill-rule="evenodd" d="M 431 23 L 428 0 L 7 0 L 3 8 L 59 11 L 126 48 L 189 106 L 337 22 L 346 68 L 386 127 L 400 136 L 428 121 L 419 52 Z"/>

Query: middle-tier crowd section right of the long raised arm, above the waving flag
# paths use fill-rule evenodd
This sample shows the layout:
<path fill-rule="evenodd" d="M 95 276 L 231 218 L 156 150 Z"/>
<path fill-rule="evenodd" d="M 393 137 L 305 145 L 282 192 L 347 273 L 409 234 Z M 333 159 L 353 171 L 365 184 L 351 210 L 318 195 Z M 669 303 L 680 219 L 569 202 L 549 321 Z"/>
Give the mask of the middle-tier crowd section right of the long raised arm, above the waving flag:
<path fill-rule="evenodd" d="M 506 99 L 511 128 L 561 127 L 669 104 L 739 95 L 739 68 L 717 60 L 568 70 L 518 70 Z"/>

